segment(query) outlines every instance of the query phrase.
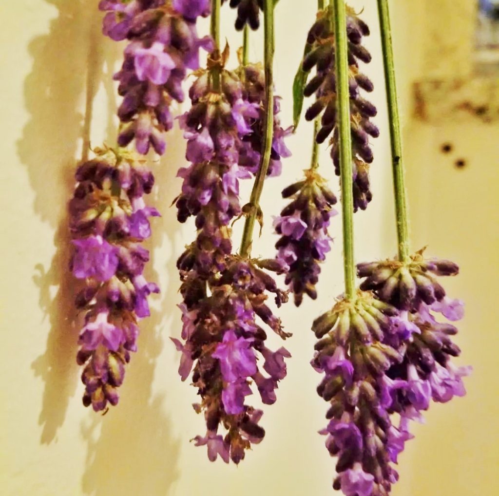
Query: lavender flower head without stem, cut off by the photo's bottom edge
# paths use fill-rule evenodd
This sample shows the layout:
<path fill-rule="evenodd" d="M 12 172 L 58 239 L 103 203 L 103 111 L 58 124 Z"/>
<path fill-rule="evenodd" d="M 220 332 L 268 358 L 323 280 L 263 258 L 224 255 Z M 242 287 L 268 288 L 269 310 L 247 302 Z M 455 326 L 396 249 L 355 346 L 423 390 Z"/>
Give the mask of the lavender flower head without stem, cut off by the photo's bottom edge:
<path fill-rule="evenodd" d="M 333 488 L 346 496 L 386 496 L 398 479 L 393 468 L 411 435 L 405 424 L 395 426 L 395 396 L 412 391 L 406 380 L 388 371 L 403 361 L 387 336 L 405 332 L 398 310 L 373 293 L 358 291 L 341 298 L 312 326 L 314 369 L 324 374 L 317 392 L 330 403 L 326 448 L 337 457 Z"/>

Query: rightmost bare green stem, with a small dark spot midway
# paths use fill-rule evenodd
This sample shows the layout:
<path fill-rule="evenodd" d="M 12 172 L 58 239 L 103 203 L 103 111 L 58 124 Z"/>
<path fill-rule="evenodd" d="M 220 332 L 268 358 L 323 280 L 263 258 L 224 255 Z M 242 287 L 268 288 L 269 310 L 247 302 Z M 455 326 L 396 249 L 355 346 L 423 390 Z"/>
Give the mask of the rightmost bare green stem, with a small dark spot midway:
<path fill-rule="evenodd" d="M 397 218 L 397 240 L 399 260 L 409 260 L 409 227 L 407 220 L 407 193 L 405 188 L 404 163 L 402 159 L 402 139 L 397 102 L 397 86 L 393 61 L 392 34 L 388 0 L 378 0 L 381 44 L 385 67 L 388 117 L 390 121 L 390 141 L 392 147 L 393 187 L 395 192 L 395 215 Z"/>

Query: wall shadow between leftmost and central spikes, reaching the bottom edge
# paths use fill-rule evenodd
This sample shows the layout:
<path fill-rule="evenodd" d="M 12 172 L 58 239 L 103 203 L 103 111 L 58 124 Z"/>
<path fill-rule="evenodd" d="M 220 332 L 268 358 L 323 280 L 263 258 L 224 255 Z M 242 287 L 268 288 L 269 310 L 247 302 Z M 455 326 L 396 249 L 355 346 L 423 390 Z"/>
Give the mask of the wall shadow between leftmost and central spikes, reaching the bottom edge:
<path fill-rule="evenodd" d="M 165 277 L 161 278 L 160 305 L 158 296 L 153 295 L 151 316 L 139 323 L 138 351 L 132 354 L 127 366 L 118 405 L 111 407 L 105 416 L 91 413 L 91 420 L 82 423 L 82 436 L 88 443 L 82 478 L 82 490 L 86 495 L 167 496 L 180 477 L 181 440 L 173 438 L 171 418 L 165 411 L 173 408 L 168 403 L 168 384 L 161 377 L 155 377 L 157 357 L 164 346 L 173 346 L 169 336 L 178 334 L 182 324 L 176 306 L 180 285 L 176 259 L 184 250 L 184 243 L 179 236 L 176 209 L 171 203 L 180 190 L 181 183 L 175 176 L 185 162 L 185 146 L 177 126 L 167 138 L 165 157 L 151 162 L 156 178 L 151 195 L 154 199 L 146 198 L 162 217 L 151 220 L 153 234 L 145 244 L 151 252 L 145 276 L 154 282 L 160 282 L 159 274 L 153 268 L 155 254 L 165 249 L 165 243 L 170 245 L 172 255 L 166 266 L 156 264 L 159 270 L 166 271 L 167 282 L 164 282 Z M 178 143 L 182 146 L 176 146 Z M 163 260 L 164 256 L 158 258 Z M 167 327 L 167 323 L 172 322 L 176 329 L 171 328 L 172 324 Z M 168 366 L 177 369 L 178 362 Z M 156 395 L 154 382 L 161 391 Z M 188 443 L 188 440 L 182 441 Z"/>

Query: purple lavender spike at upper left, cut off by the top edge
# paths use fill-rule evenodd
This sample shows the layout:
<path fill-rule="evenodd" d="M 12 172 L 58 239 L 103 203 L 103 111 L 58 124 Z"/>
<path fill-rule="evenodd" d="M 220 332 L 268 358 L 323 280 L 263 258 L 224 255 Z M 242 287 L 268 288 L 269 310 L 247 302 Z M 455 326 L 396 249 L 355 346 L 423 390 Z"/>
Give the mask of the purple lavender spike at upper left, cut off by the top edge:
<path fill-rule="evenodd" d="M 196 31 L 197 17 L 210 13 L 210 0 L 102 0 L 99 8 L 107 11 L 104 34 L 129 40 L 114 76 L 123 97 L 119 145 L 135 140 L 139 153 L 152 145 L 161 155 L 164 133 L 173 125 L 171 104 L 184 100 L 187 70 L 199 68 L 200 48 L 213 47 L 210 36 L 199 38 Z"/>

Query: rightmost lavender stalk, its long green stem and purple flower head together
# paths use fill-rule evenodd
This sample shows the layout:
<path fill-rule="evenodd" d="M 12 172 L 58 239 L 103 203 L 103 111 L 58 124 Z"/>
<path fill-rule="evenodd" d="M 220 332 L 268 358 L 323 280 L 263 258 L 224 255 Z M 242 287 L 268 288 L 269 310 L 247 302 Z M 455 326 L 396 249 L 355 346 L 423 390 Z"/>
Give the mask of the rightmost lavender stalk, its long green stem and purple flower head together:
<path fill-rule="evenodd" d="M 437 318 L 440 313 L 447 321 L 457 321 L 464 315 L 463 302 L 448 298 L 436 277 L 457 275 L 458 265 L 449 260 L 425 258 L 425 249 L 409 255 L 402 140 L 387 1 L 378 0 L 378 9 L 390 116 L 398 257 L 361 263 L 357 272 L 364 278 L 361 288 L 374 291 L 382 301 L 393 304 L 401 313 L 398 339 L 389 339 L 405 351 L 404 360 L 390 368 L 387 374 L 392 380 L 407 383 L 406 388 L 394 395 L 391 409 L 400 414 L 399 429 L 409 437 L 409 420 L 420 419 L 420 412 L 429 408 L 431 400 L 445 403 L 454 396 L 466 394 L 462 377 L 470 374 L 471 367 L 457 367 L 452 363 L 452 357 L 461 352 L 451 339 L 458 329 Z"/>

